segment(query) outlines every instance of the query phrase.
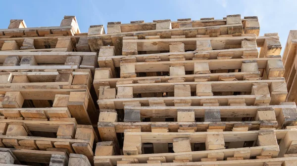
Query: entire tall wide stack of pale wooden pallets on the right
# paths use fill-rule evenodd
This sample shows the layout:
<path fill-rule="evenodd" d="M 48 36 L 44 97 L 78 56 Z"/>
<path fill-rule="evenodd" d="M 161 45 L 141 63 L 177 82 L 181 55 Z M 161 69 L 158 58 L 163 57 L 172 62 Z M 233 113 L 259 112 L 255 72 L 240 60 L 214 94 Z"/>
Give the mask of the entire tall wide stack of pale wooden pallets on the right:
<path fill-rule="evenodd" d="M 107 33 L 88 35 L 99 49 L 95 166 L 295 166 L 281 44 L 258 36 L 256 17 L 115 22 Z"/>

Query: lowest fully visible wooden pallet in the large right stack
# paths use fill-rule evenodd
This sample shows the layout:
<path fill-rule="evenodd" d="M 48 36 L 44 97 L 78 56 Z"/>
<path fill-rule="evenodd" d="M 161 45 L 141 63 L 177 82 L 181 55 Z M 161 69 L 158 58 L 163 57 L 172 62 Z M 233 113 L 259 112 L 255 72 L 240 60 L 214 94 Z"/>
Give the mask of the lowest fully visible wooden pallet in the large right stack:
<path fill-rule="evenodd" d="M 222 132 L 222 129 L 216 128 L 209 129 L 207 132 L 201 133 L 160 133 L 161 128 L 156 128 L 155 130 L 158 130 L 158 132 L 137 133 L 137 129 L 131 129 L 130 131 L 126 130 L 123 145 L 123 156 L 113 156 L 112 144 L 108 144 L 107 142 L 98 143 L 97 154 L 99 154 L 99 156 L 96 156 L 94 158 L 95 165 L 99 165 L 100 163 L 105 163 L 108 166 L 129 163 L 150 163 L 150 160 L 162 160 L 161 163 L 183 163 L 187 162 L 187 160 L 188 162 L 213 161 L 209 158 L 215 158 L 214 161 L 220 161 L 224 159 L 236 160 L 236 157 L 241 158 L 237 160 L 249 159 L 250 157 L 255 156 L 270 156 L 272 158 L 277 156 L 284 157 L 287 152 L 291 153 L 291 150 L 293 150 L 291 149 L 294 146 L 294 143 L 292 141 L 296 139 L 293 138 L 293 134 L 297 132 L 293 129 L 275 131 L 243 131 L 240 128 L 238 128 L 240 132 L 236 132 L 235 129 L 233 132 Z M 234 137 L 234 135 L 236 135 L 236 137 Z M 279 145 L 277 139 L 281 139 Z M 248 144 L 246 144 L 245 146 L 247 147 L 236 148 L 236 143 L 241 142 L 240 144 L 242 146 L 242 142 L 245 141 L 252 141 L 250 145 L 256 144 L 257 146 L 248 148 Z M 206 151 L 192 151 L 193 146 L 195 147 L 195 144 L 204 142 L 206 145 L 204 147 Z M 225 142 L 229 142 L 228 145 L 226 145 Z M 146 150 L 149 151 L 148 146 L 146 148 L 146 144 L 144 143 L 146 143 L 147 145 L 148 143 L 152 143 L 153 146 L 161 146 L 161 144 L 167 144 L 167 147 L 168 143 L 173 143 L 172 150 L 175 153 L 168 153 L 168 149 L 166 153 L 166 149 L 160 148 L 158 149 L 159 152 L 157 154 L 144 154 Z M 293 144 L 290 145 L 291 143 Z M 237 146 L 238 145 L 239 144 L 237 144 Z M 229 146 L 230 149 L 225 149 L 225 146 Z M 157 150 L 157 148 L 158 147 L 154 147 L 153 150 L 155 151 Z M 103 149 L 104 151 L 100 151 Z M 232 159 L 233 157 L 235 157 L 235 159 Z M 126 163 L 126 161 L 130 162 Z M 156 161 L 151 161 L 151 163 L 154 162 Z"/>

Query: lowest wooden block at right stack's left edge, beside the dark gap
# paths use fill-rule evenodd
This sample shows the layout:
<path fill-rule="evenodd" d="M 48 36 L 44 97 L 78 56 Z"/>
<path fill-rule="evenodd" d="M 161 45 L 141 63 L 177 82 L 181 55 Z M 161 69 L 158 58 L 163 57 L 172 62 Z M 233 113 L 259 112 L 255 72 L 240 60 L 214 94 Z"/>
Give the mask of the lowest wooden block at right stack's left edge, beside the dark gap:
<path fill-rule="evenodd" d="M 112 156 L 114 143 L 112 141 L 98 142 L 96 144 L 95 156 Z"/>

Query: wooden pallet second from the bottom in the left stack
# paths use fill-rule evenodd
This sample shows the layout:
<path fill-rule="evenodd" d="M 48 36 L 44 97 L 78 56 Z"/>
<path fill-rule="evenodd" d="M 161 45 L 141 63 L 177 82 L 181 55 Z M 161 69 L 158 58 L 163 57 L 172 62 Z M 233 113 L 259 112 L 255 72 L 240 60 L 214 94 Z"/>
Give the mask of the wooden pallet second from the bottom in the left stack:
<path fill-rule="evenodd" d="M 70 153 L 77 153 L 86 155 L 92 161 L 94 156 L 92 147 L 94 142 L 98 142 L 92 126 L 76 125 L 75 121 L 68 123 L 35 121 L 34 123 L 27 120 L 4 120 L 1 121 L 0 126 L 1 147 L 7 148 L 60 151 L 66 152 L 67 156 Z M 45 126 L 48 126 L 48 129 L 45 130 Z M 43 137 L 35 135 L 43 135 Z"/>

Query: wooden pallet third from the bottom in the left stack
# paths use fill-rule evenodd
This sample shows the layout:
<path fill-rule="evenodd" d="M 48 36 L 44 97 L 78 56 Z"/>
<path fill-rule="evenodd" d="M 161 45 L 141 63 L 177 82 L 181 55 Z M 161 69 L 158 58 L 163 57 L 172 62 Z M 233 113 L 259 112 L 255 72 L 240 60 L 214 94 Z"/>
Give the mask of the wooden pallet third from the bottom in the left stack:
<path fill-rule="evenodd" d="M 79 124 L 91 125 L 98 112 L 87 87 L 85 89 L 0 89 L 1 114 L 5 118 L 77 118 Z M 52 101 L 49 101 L 52 100 Z M 52 103 L 51 103 L 52 102 Z M 25 106 L 27 108 L 21 108 Z M 32 107 L 41 107 L 42 110 Z M 28 113 L 23 115 L 21 112 Z M 52 112 L 53 114 L 49 114 Z"/>

